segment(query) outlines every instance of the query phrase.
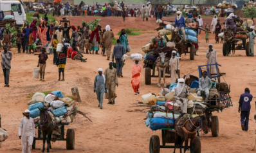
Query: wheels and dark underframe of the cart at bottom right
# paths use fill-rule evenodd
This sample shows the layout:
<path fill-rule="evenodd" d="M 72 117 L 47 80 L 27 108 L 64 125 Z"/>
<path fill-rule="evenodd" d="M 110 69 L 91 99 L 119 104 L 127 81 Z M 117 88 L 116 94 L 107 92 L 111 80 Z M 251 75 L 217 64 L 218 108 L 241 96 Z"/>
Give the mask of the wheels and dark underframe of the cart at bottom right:
<path fill-rule="evenodd" d="M 176 141 L 176 132 L 174 128 L 171 129 L 161 129 L 162 134 L 162 143 L 160 145 L 159 136 L 153 135 L 151 136 L 151 140 L 149 142 L 149 152 L 150 153 L 160 153 L 160 148 L 162 149 L 184 149 L 185 146 L 176 146 L 175 145 L 166 145 L 166 143 L 175 143 Z M 194 138 L 194 140 L 190 141 L 190 145 L 188 146 L 191 153 L 201 153 L 201 141 L 198 136 Z"/>

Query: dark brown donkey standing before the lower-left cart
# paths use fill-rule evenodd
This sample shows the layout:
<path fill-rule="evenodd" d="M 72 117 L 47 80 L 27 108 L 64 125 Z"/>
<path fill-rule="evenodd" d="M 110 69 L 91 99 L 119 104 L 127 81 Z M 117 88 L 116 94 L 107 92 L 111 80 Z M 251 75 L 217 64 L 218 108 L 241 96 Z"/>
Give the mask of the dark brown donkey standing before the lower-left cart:
<path fill-rule="evenodd" d="M 55 129 L 56 125 L 53 124 L 51 120 L 51 116 L 48 114 L 45 108 L 39 109 L 40 110 L 40 120 L 39 125 L 42 131 L 42 153 L 44 153 L 44 144 L 46 141 L 47 136 L 47 152 L 49 153 L 51 149 L 51 134 Z"/>

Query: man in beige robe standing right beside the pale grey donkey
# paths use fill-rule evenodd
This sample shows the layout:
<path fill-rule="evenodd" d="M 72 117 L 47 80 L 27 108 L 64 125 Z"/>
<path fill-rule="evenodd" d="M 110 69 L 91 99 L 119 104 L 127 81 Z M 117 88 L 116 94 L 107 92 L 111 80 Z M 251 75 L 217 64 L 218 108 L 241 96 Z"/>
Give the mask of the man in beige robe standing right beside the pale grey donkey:
<path fill-rule="evenodd" d="M 175 49 L 175 48 L 174 48 Z M 176 57 L 176 50 L 172 51 L 172 57 L 169 61 L 169 69 L 170 69 L 170 84 L 175 83 L 179 78 L 179 57 Z"/>

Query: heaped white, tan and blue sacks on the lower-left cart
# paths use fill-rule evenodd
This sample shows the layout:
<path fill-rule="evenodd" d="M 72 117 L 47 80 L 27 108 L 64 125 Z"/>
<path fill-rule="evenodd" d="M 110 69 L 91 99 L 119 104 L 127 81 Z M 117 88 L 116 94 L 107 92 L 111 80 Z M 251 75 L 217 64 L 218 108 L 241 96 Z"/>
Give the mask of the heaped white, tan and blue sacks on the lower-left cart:
<path fill-rule="evenodd" d="M 64 115 L 68 111 L 77 109 L 75 101 L 69 97 L 64 97 L 61 91 L 53 91 L 44 95 L 44 93 L 35 93 L 28 103 L 30 110 L 30 117 L 37 123 L 40 120 L 40 110 L 47 108 L 56 118 L 57 123 L 71 123 L 75 116 L 73 114 Z"/>

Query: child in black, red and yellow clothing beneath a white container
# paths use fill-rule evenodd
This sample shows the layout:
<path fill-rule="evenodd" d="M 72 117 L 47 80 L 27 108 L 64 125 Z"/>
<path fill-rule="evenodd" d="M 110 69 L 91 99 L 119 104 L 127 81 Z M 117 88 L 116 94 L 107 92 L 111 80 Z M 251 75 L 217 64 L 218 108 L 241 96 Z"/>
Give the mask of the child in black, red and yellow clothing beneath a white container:
<path fill-rule="evenodd" d="M 60 81 L 60 74 L 62 72 L 62 80 L 64 81 L 64 71 L 66 66 L 66 60 L 67 60 L 67 52 L 65 51 L 65 48 L 62 47 L 61 52 L 59 54 L 59 57 L 57 58 L 56 65 L 59 67 L 59 80 Z"/>

